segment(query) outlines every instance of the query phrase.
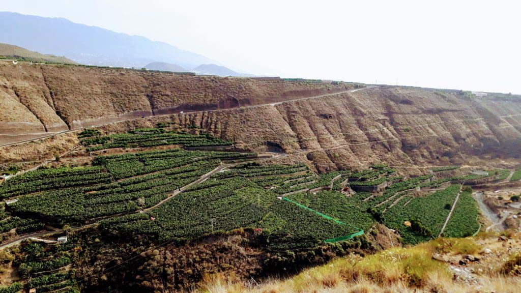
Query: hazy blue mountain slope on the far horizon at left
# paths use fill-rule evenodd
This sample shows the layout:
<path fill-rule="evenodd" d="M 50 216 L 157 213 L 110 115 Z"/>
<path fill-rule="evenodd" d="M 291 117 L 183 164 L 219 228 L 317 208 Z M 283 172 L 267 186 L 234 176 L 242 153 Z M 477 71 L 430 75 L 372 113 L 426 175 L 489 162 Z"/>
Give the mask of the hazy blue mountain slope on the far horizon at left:
<path fill-rule="evenodd" d="M 81 25 L 64 18 L 0 12 L 0 31 L 0 42 L 43 54 L 67 56 L 82 64 L 141 68 L 162 60 L 193 68 L 215 63 L 167 43 Z"/>

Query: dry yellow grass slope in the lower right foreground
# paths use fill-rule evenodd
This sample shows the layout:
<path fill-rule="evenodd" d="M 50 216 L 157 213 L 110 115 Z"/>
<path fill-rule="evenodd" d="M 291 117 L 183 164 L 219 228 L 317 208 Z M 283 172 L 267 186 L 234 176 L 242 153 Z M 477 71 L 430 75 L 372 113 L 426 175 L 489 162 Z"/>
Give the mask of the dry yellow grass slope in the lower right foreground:
<path fill-rule="evenodd" d="M 288 279 L 252 285 L 208 277 L 193 292 L 519 292 L 521 235 L 440 238 L 360 257 L 350 254 Z"/>

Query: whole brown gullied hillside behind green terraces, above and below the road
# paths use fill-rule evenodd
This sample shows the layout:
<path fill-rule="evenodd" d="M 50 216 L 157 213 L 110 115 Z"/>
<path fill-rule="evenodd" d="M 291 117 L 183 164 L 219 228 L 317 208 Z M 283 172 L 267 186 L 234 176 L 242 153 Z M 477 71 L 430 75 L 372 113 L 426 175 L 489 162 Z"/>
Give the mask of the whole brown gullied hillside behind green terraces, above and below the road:
<path fill-rule="evenodd" d="M 105 128 L 128 131 L 160 121 L 198 126 L 240 148 L 278 148 L 289 154 L 288 161 L 313 164 L 321 172 L 375 162 L 479 164 L 519 156 L 521 99 L 515 95 L 400 87 L 346 92 L 356 86 L 77 66 L 3 64 L 0 71 L 6 84 L 1 101 L 11 109 L 0 117 L 4 142 L 172 113 Z M 279 103 L 310 96 L 315 97 Z M 234 109 L 261 104 L 266 105 Z M 228 111 L 205 112 L 214 109 Z"/>

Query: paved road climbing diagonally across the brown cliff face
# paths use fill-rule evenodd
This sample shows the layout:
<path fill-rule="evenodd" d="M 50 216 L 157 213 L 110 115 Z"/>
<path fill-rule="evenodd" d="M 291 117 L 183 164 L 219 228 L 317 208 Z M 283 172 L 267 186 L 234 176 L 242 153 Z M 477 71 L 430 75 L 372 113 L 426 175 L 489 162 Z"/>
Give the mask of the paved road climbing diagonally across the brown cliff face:
<path fill-rule="evenodd" d="M 288 103 L 288 102 L 303 101 L 303 100 L 309 100 L 309 99 L 317 99 L 319 97 L 343 94 L 343 93 L 348 93 L 348 92 L 357 92 L 357 91 L 361 91 L 361 90 L 365 90 L 365 89 L 369 89 L 369 88 L 374 88 L 374 87 L 375 86 L 368 86 L 366 88 L 361 88 L 361 89 L 345 90 L 345 91 L 340 91 L 340 92 L 335 92 L 335 93 L 330 93 L 330 94 L 321 94 L 321 95 L 315 95 L 315 96 L 309 96 L 309 97 L 301 97 L 299 99 L 286 100 L 286 101 L 281 101 L 281 102 L 276 102 L 276 103 L 266 103 L 266 104 L 251 105 L 251 106 L 239 106 L 239 107 L 233 107 L 233 108 L 227 108 L 227 109 L 216 109 L 216 110 L 208 110 L 208 111 L 184 112 L 184 114 L 201 113 L 201 112 L 207 112 L 208 113 L 208 112 L 230 111 L 230 110 L 238 109 L 238 108 L 256 108 L 256 107 L 262 107 L 262 106 L 267 106 L 267 105 L 272 105 L 272 104 L 282 104 L 282 103 Z M 119 123 L 119 122 L 123 122 L 123 121 L 133 121 L 133 120 L 147 119 L 147 118 L 151 118 L 151 117 L 164 117 L 164 116 L 170 116 L 170 115 L 175 115 L 175 113 L 174 114 L 151 115 L 151 116 L 145 116 L 145 117 L 139 117 L 139 118 L 118 119 L 118 120 L 114 120 L 114 121 L 107 122 L 107 123 L 102 123 L 102 124 L 96 124 L 96 125 L 91 125 L 91 126 L 79 127 L 79 128 L 74 128 L 74 129 L 67 129 L 67 130 L 58 131 L 58 132 L 48 132 L 45 135 L 38 136 L 38 137 L 35 137 L 35 138 L 0 144 L 0 147 L 1 146 L 16 145 L 16 144 L 21 144 L 21 143 L 26 143 L 26 142 L 31 142 L 31 141 L 38 141 L 38 140 L 42 140 L 44 138 L 49 138 L 49 137 L 53 137 L 53 136 L 57 136 L 57 135 L 63 135 L 64 133 L 68 133 L 68 132 L 84 130 L 84 129 L 94 128 L 94 127 L 101 127 L 101 126 L 115 124 L 115 123 Z M 16 136 L 16 135 L 9 135 L 9 136 Z M 20 134 L 20 136 L 27 136 L 27 134 Z"/>

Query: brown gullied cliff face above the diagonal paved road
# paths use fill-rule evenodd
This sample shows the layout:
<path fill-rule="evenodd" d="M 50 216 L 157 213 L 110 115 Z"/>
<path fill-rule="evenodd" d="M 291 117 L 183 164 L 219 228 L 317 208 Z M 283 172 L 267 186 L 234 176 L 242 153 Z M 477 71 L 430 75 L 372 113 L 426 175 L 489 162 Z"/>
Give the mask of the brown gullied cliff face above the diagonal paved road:
<path fill-rule="evenodd" d="M 0 62 L 0 107 L 4 110 L 0 113 L 0 135 L 278 102 L 353 87 Z"/>

